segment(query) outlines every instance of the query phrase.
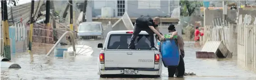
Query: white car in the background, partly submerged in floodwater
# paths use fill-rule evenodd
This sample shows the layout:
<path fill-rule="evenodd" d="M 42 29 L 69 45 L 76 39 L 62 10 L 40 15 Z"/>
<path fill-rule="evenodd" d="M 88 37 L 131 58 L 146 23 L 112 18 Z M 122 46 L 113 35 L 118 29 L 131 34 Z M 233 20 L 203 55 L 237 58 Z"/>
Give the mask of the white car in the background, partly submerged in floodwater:
<path fill-rule="evenodd" d="M 79 24 L 77 36 L 80 39 L 103 38 L 103 26 L 101 22 L 82 22 Z"/>

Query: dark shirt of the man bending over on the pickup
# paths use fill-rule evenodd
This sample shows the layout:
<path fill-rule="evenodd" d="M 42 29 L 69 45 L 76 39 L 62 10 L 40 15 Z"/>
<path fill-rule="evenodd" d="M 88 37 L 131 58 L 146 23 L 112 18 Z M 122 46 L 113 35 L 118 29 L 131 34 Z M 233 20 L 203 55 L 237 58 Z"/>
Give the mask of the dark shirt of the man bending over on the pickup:
<path fill-rule="evenodd" d="M 149 28 L 148 26 L 158 27 L 158 24 L 154 25 L 153 18 L 149 18 L 149 17 L 145 17 L 145 16 L 137 18 L 135 20 L 135 25 L 137 27 L 141 27 L 144 29 Z"/>

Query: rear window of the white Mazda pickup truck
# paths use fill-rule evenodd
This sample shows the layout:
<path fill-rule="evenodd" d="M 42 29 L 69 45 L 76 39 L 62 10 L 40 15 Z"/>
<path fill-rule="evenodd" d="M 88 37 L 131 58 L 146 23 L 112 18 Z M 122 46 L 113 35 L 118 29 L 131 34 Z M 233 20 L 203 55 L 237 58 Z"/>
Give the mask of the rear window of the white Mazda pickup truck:
<path fill-rule="evenodd" d="M 128 49 L 132 34 L 113 34 L 109 36 L 108 49 Z M 149 35 L 138 35 L 135 49 L 151 49 Z M 156 41 L 155 41 L 156 43 Z"/>

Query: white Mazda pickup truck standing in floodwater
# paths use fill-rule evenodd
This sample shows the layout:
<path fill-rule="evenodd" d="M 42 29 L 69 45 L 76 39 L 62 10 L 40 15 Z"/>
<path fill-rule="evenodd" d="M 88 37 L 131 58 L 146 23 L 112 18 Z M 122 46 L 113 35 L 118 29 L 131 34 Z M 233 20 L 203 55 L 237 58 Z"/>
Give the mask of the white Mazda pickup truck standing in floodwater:
<path fill-rule="evenodd" d="M 133 31 L 110 31 L 98 58 L 98 74 L 109 75 L 147 75 L 160 77 L 162 72 L 161 54 L 150 47 L 150 38 L 141 31 L 135 40 L 135 49 L 128 49 Z M 156 46 L 156 38 L 154 37 Z"/>

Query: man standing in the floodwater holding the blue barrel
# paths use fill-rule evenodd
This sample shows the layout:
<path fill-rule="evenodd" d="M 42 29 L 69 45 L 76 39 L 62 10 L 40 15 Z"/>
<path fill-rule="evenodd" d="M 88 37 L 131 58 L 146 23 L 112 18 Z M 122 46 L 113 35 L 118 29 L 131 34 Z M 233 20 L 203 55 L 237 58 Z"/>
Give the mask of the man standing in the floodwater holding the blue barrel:
<path fill-rule="evenodd" d="M 176 31 L 175 26 L 171 24 L 168 27 L 168 32 L 174 34 L 173 32 L 175 31 Z M 173 77 L 175 74 L 176 77 L 182 78 L 184 77 L 184 73 L 185 73 L 185 63 L 183 60 L 185 56 L 185 52 L 184 52 L 184 41 L 183 41 L 183 38 L 180 36 L 180 34 L 177 34 L 177 42 L 179 44 L 179 49 L 180 49 L 180 62 L 178 67 L 168 67 L 168 76 Z"/>

